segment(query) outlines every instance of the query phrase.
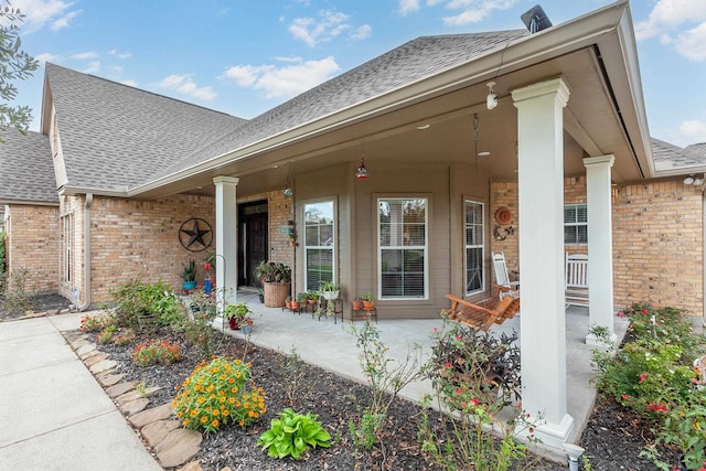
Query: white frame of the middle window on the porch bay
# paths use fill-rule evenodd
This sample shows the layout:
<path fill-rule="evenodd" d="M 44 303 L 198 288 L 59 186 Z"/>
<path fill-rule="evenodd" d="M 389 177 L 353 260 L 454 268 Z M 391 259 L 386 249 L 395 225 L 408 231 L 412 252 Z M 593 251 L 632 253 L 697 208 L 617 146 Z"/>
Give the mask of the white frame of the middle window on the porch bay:
<path fill-rule="evenodd" d="M 424 208 L 425 208 L 425 234 L 424 234 L 424 246 L 419 245 L 386 245 L 383 246 L 381 242 L 382 237 L 382 226 L 381 226 L 381 213 L 379 205 L 382 202 L 404 202 L 411 200 L 422 200 Z M 430 197 L 426 195 L 418 196 L 378 196 L 376 199 L 375 204 L 375 217 L 376 217 L 376 228 L 377 228 L 377 298 L 381 300 L 394 300 L 394 301 L 422 301 L 429 299 L 429 210 L 430 210 Z M 403 221 L 404 224 L 404 221 Z M 404 243 L 403 243 L 404 244 Z M 422 250 L 424 251 L 424 293 L 417 297 L 404 297 L 404 296 L 384 296 L 383 295 L 383 250 L 391 249 L 407 249 L 407 250 Z"/>

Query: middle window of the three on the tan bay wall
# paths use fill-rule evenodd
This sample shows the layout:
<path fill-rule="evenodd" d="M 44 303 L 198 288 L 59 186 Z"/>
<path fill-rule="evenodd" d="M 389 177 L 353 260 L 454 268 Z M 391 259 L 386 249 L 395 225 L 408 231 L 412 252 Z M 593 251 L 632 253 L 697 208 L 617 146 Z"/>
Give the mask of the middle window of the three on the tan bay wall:
<path fill-rule="evenodd" d="M 381 299 L 427 299 L 427 199 L 377 200 Z"/>

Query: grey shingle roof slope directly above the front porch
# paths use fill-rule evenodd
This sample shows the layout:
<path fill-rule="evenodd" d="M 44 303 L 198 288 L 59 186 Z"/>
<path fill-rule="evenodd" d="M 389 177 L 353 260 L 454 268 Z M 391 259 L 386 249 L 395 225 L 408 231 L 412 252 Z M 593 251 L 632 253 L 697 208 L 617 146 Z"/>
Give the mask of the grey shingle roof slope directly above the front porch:
<path fill-rule="evenodd" d="M 264 113 L 197 152 L 184 154 L 159 176 L 450 69 L 527 34 L 526 30 L 511 30 L 418 38 Z"/>

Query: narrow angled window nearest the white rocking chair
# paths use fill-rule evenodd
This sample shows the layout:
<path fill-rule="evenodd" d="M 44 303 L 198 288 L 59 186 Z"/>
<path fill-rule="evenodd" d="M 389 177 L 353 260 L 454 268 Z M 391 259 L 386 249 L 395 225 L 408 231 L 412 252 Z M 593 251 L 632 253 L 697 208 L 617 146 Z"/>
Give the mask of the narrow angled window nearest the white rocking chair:
<path fill-rule="evenodd" d="M 483 203 L 466 201 L 466 293 L 483 291 L 485 259 L 483 238 Z"/>

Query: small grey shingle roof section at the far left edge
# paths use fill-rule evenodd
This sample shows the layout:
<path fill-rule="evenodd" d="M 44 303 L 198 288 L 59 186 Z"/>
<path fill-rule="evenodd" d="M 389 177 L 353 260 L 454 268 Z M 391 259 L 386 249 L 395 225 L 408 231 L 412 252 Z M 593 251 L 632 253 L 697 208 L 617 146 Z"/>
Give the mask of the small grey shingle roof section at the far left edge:
<path fill-rule="evenodd" d="M 0 128 L 0 203 L 58 204 L 49 138 L 13 128 Z"/>

